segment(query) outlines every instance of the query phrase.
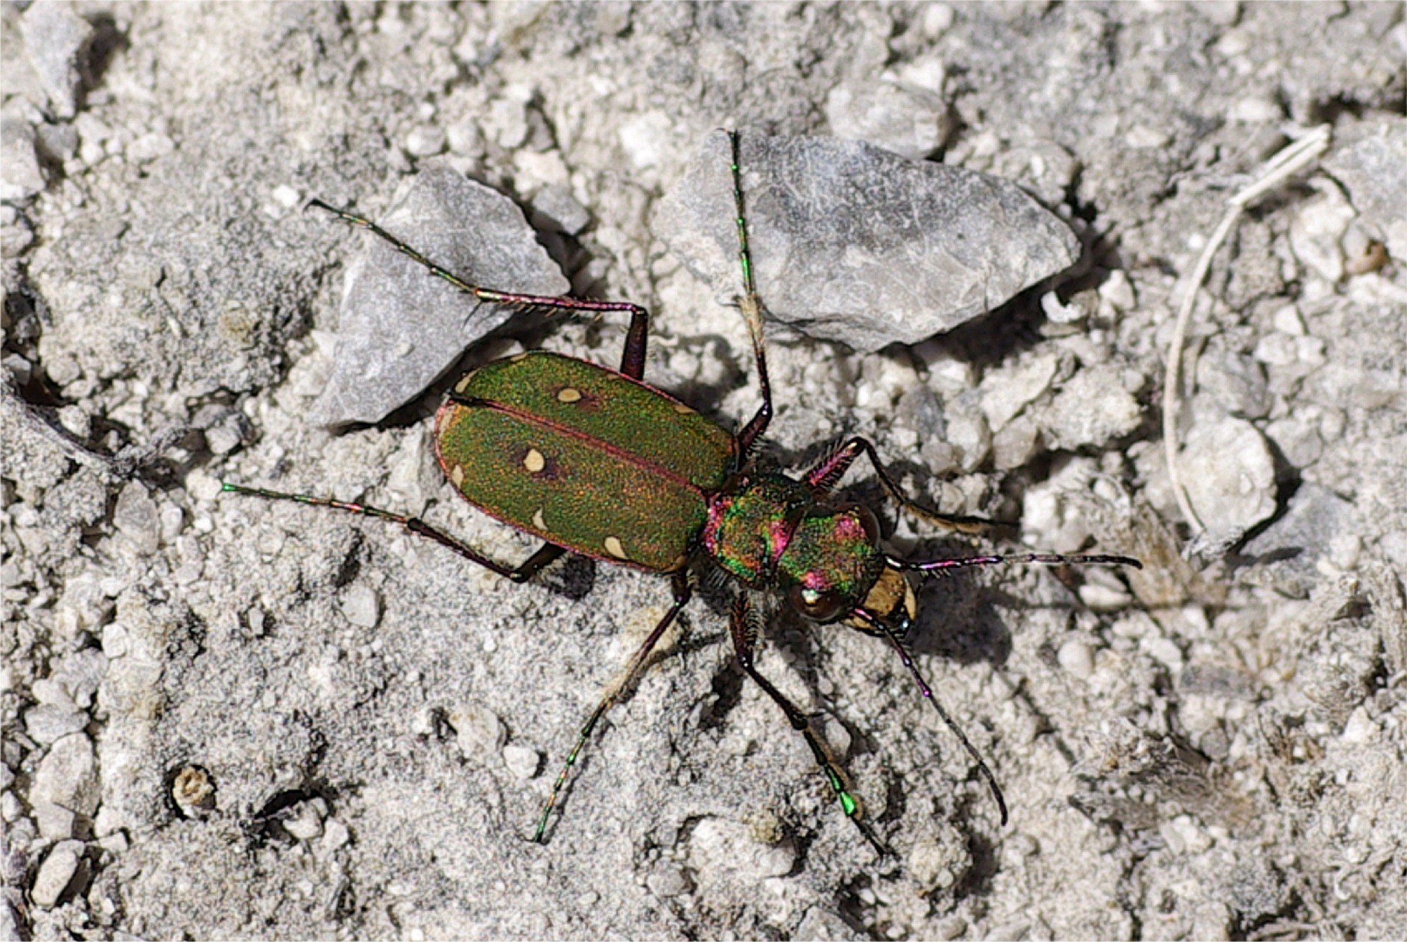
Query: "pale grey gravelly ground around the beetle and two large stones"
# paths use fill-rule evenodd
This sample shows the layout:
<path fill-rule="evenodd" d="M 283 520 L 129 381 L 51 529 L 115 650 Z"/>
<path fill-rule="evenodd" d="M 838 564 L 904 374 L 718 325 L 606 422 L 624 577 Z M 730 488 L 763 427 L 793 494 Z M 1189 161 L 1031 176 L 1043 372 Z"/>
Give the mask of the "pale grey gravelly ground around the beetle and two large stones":
<path fill-rule="evenodd" d="M 0 14 L 6 936 L 1407 936 L 1401 4 Z M 1249 208 L 1200 292 L 1180 467 L 1220 543 L 1185 558 L 1159 430 L 1179 277 L 1320 124 L 1323 162 Z M 1019 522 L 900 520 L 898 551 L 1147 564 L 922 589 L 917 662 L 1006 827 L 885 644 L 779 619 L 760 668 L 843 758 L 878 858 L 732 665 L 715 593 L 533 845 L 667 583 L 575 560 L 511 585 L 384 522 L 219 492 L 530 550 L 433 465 L 449 380 L 377 426 L 308 420 L 363 242 L 301 205 L 377 217 L 431 159 L 515 200 L 574 290 L 651 309 L 647 378 L 746 420 L 741 319 L 649 225 L 719 127 L 1003 176 L 1082 238 L 1054 292 L 950 335 L 768 349 L 778 461 L 865 434 L 922 499 Z M 622 335 L 535 326 L 464 366 L 615 363 Z M 882 501 L 862 467 L 846 489 Z"/>

